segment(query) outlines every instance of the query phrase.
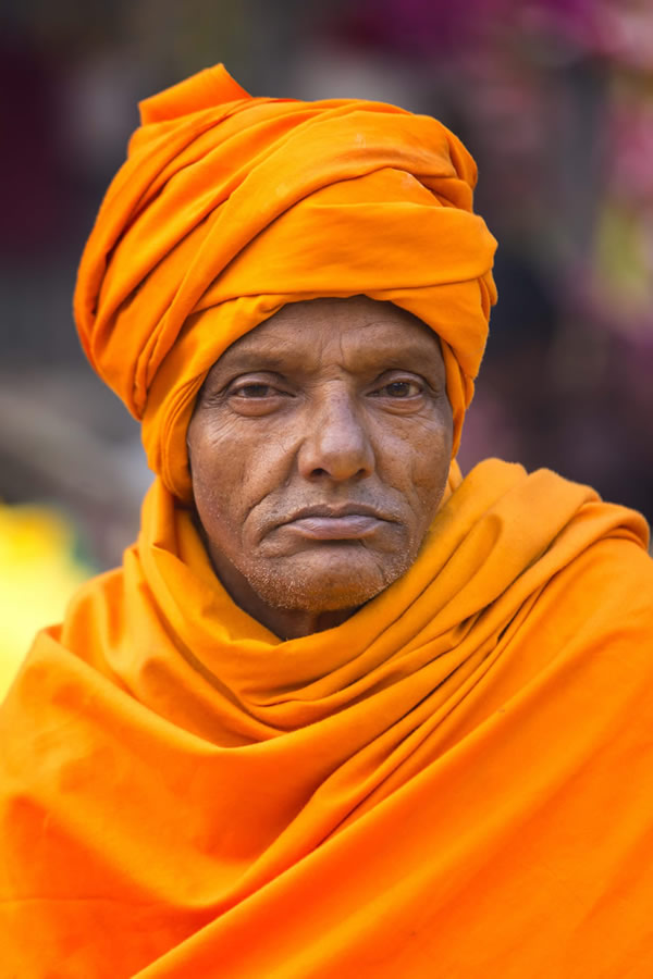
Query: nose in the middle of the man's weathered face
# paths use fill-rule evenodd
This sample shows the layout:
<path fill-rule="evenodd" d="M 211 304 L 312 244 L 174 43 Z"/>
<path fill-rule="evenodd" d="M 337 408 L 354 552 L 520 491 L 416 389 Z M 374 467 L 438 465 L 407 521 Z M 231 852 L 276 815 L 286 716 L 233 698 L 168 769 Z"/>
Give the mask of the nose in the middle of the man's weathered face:
<path fill-rule="evenodd" d="M 335 391 L 317 400 L 306 418 L 298 454 L 300 474 L 338 483 L 369 475 L 374 470 L 374 453 L 353 396 Z"/>

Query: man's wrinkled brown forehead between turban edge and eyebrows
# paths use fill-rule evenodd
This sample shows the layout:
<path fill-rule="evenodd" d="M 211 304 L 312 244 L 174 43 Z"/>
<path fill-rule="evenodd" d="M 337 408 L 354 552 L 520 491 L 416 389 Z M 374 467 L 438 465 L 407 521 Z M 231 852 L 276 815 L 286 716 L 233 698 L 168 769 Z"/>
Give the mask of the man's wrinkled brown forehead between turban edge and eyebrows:
<path fill-rule="evenodd" d="M 288 303 L 232 344 L 211 373 L 246 370 L 257 359 L 271 369 L 295 362 L 317 367 L 333 359 L 361 369 L 379 361 L 406 365 L 422 359 L 443 367 L 440 339 L 432 330 L 392 302 L 367 296 Z"/>

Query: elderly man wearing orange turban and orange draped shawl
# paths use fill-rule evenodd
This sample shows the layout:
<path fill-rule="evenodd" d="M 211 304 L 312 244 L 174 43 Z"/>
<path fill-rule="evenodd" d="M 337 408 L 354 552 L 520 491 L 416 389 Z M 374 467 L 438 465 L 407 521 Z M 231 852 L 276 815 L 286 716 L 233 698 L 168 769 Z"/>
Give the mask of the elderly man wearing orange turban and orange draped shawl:
<path fill-rule="evenodd" d="M 2 975 L 649 979 L 646 528 L 453 461 L 471 158 L 221 67 L 141 117 L 75 312 L 157 480 L 2 709 Z"/>

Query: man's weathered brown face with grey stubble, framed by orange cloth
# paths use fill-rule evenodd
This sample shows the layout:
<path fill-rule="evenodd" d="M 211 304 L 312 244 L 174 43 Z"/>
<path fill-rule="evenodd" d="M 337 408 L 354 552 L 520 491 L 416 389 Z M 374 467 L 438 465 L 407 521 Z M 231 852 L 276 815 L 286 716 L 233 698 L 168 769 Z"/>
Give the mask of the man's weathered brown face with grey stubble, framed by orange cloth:
<path fill-rule="evenodd" d="M 234 602 L 282 639 L 349 618 L 415 561 L 452 431 L 439 339 L 390 302 L 292 303 L 234 343 L 188 426 L 198 519 Z"/>

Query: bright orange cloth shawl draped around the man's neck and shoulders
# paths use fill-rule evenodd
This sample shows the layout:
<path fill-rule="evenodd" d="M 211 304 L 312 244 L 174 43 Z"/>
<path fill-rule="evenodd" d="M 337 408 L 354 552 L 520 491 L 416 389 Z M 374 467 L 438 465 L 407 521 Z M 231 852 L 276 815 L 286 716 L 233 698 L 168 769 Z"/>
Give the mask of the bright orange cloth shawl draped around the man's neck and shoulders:
<path fill-rule="evenodd" d="M 641 517 L 489 460 L 282 642 L 157 481 L 0 711 L 3 977 L 653 975 Z"/>

